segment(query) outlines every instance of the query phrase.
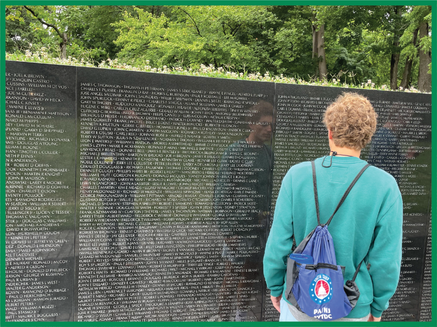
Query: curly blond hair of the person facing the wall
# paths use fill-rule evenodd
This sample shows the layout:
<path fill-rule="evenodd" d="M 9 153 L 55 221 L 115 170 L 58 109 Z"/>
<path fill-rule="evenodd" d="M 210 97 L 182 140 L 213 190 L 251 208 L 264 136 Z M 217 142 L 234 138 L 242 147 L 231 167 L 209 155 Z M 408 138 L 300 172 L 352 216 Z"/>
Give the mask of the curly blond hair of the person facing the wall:
<path fill-rule="evenodd" d="M 376 130 L 378 115 L 369 100 L 357 93 L 343 93 L 328 108 L 323 123 L 336 146 L 361 150 Z"/>

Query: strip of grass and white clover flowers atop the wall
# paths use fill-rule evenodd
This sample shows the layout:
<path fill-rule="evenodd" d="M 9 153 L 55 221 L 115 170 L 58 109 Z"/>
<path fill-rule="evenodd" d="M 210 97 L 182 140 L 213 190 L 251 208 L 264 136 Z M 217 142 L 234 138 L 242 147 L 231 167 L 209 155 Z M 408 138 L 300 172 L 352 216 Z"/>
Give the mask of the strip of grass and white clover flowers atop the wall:
<path fill-rule="evenodd" d="M 88 58 L 75 58 L 69 56 L 67 59 L 60 59 L 59 57 L 54 58 L 52 53 L 48 51 L 47 48 L 40 48 L 39 50 L 30 51 L 26 50 L 25 53 L 16 51 L 14 53 L 6 53 L 6 60 L 14 61 L 28 61 L 28 62 L 38 62 L 44 64 L 55 64 L 55 65 L 70 65 L 70 66 L 83 66 L 83 67 L 96 67 L 94 62 Z M 131 70 L 135 72 L 153 72 L 162 74 L 176 74 L 176 75 L 190 75 L 190 76 L 203 76 L 203 77 L 216 77 L 216 78 L 232 78 L 232 79 L 243 79 L 249 81 L 260 81 L 260 82 L 275 82 L 275 83 L 287 83 L 287 84 L 300 84 L 300 85 L 318 85 L 318 86 L 333 86 L 349 89 L 368 89 L 368 90 L 382 90 L 390 91 L 390 87 L 387 85 L 377 86 L 370 79 L 366 83 L 361 83 L 357 85 L 354 82 L 353 72 L 345 72 L 346 82 L 340 82 L 338 76 L 334 75 L 330 80 L 321 81 L 319 79 L 311 79 L 306 81 L 304 78 L 300 77 L 287 77 L 283 74 L 281 75 L 271 75 L 269 72 L 261 75 L 259 72 L 236 72 L 234 67 L 227 66 L 214 67 L 213 65 L 205 66 L 200 64 L 199 67 L 184 67 L 184 66 L 173 66 L 162 68 L 155 68 L 149 65 L 149 61 L 146 60 L 146 65 L 143 67 L 135 67 L 128 65 L 127 63 L 118 62 L 118 59 L 111 60 L 108 58 L 106 61 L 101 61 L 97 66 L 98 68 L 110 68 L 110 69 L 121 69 L 121 70 Z M 347 81 L 350 80 L 350 83 Z M 422 93 L 414 87 L 410 89 L 403 90 L 402 87 L 399 88 L 397 92 L 414 92 Z"/>

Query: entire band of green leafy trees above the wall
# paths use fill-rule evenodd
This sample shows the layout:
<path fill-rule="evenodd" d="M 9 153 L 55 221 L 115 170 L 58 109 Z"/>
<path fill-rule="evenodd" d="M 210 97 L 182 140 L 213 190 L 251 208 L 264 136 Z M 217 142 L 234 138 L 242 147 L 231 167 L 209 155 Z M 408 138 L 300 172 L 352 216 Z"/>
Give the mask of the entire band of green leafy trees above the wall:
<path fill-rule="evenodd" d="M 430 6 L 6 7 L 9 52 L 37 44 L 59 55 L 65 39 L 66 56 L 96 65 L 212 64 L 392 89 L 427 85 L 430 31 Z"/>

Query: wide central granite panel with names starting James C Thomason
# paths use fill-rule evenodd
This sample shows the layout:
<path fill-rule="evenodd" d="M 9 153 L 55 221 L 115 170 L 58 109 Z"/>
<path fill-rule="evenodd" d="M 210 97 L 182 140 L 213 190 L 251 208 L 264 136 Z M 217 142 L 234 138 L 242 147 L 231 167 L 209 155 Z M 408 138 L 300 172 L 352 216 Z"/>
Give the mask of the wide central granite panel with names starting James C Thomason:
<path fill-rule="evenodd" d="M 274 84 L 77 72 L 76 319 L 260 320 Z"/>

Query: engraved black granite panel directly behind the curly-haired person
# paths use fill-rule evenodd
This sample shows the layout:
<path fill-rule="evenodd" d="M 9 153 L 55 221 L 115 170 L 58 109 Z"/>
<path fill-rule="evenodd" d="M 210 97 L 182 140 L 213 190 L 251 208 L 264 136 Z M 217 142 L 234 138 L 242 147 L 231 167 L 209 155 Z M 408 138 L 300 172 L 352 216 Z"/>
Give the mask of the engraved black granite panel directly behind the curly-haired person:
<path fill-rule="evenodd" d="M 329 152 L 323 113 L 338 95 L 350 91 L 366 96 L 378 113 L 377 131 L 371 143 L 361 151 L 361 159 L 392 174 L 404 202 L 401 276 L 382 320 L 416 321 L 420 319 L 418 302 L 421 283 L 424 282 L 422 266 L 430 263 L 424 260 L 426 249 L 430 254 L 427 245 L 431 187 L 430 94 L 277 83 L 277 123 L 272 143 L 275 156 L 272 208 L 282 178 L 291 166 Z M 429 281 L 429 275 L 426 278 Z M 426 290 L 424 288 L 423 292 Z"/>

